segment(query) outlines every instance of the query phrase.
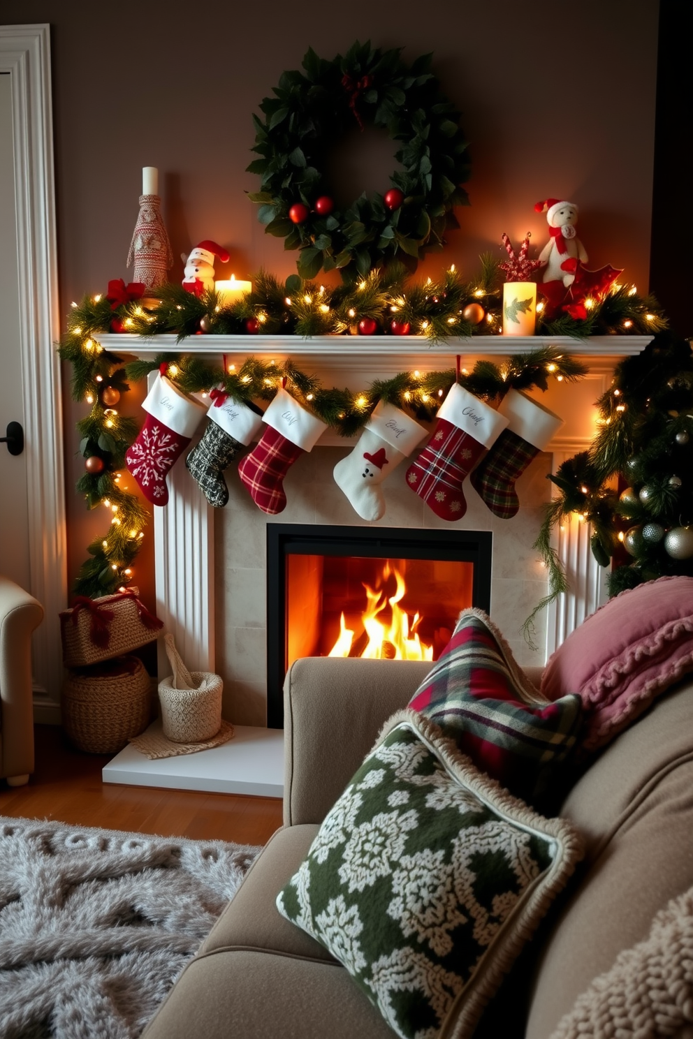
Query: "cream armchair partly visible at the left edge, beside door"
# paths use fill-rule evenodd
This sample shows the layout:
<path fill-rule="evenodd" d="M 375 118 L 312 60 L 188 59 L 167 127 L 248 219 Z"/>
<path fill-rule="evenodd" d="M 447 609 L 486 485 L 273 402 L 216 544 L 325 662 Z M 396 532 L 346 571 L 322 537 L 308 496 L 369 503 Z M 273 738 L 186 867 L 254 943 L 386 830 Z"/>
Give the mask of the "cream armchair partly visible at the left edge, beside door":
<path fill-rule="evenodd" d="M 41 603 L 0 576 L 0 778 L 22 787 L 33 772 L 31 634 Z"/>

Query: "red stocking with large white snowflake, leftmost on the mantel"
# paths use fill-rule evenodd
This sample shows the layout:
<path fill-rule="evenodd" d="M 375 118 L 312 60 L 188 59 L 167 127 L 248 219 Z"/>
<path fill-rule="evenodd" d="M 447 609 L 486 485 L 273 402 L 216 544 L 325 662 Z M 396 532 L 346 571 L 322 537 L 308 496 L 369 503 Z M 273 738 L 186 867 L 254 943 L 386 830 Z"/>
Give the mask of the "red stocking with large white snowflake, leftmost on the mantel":
<path fill-rule="evenodd" d="M 192 439 L 206 408 L 187 397 L 163 374 L 161 365 L 152 389 L 142 402 L 144 425 L 125 456 L 125 463 L 152 505 L 168 503 L 166 473 Z"/>

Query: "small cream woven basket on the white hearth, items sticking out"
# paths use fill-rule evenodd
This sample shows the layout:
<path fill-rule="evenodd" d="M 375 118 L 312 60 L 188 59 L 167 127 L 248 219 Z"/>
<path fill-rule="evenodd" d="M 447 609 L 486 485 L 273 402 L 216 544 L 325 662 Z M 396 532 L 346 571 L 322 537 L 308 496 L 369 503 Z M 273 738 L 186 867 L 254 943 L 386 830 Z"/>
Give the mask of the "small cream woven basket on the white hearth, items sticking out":
<path fill-rule="evenodd" d="M 211 740 L 221 728 L 223 683 L 211 671 L 188 671 L 165 635 L 166 654 L 174 673 L 159 683 L 159 702 L 164 736 L 174 743 Z"/>

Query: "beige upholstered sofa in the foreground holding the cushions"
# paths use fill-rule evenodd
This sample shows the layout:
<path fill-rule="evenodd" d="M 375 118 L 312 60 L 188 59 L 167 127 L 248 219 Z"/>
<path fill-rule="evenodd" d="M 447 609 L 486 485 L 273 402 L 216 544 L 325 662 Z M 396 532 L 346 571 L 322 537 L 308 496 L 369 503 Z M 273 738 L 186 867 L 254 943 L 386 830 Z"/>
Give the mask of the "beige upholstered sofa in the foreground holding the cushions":
<path fill-rule="evenodd" d="M 390 714 L 430 665 L 312 658 L 285 685 L 285 826 L 177 981 L 145 1039 L 392 1039 L 346 970 L 274 899 Z M 537 675 L 531 675 L 536 681 Z M 693 682 L 657 700 L 582 775 L 562 814 L 587 855 L 476 1036 L 550 1039 L 652 916 L 693 884 Z M 629 1033 L 630 1034 L 630 1033 Z M 693 1032 L 667 1032 L 690 1039 Z"/>

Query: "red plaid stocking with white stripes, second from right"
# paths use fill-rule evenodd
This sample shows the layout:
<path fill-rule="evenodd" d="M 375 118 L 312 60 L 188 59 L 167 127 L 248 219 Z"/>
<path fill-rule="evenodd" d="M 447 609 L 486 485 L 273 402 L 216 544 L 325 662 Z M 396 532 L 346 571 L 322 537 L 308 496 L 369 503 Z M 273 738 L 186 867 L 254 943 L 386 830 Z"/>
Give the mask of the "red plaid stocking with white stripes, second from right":
<path fill-rule="evenodd" d="M 452 385 L 428 444 L 406 471 L 411 489 L 442 520 L 460 520 L 467 512 L 464 477 L 507 421 L 459 383 Z"/>

